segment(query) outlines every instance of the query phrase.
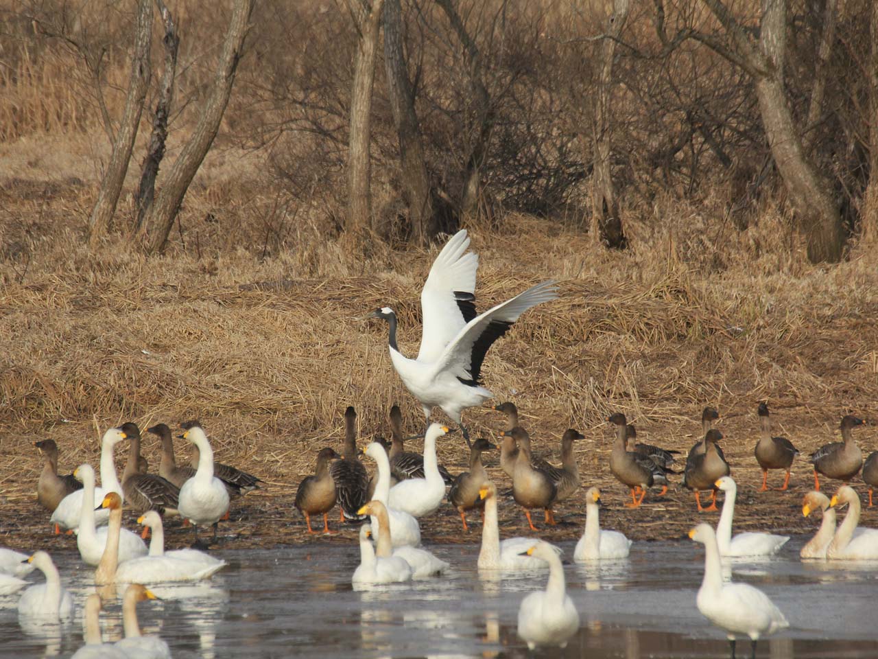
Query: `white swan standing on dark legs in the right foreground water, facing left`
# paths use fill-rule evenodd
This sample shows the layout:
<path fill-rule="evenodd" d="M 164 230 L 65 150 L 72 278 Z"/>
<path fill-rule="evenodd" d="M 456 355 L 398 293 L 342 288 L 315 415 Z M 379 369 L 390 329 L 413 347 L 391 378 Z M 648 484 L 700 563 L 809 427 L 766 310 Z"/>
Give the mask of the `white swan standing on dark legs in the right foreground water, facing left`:
<path fill-rule="evenodd" d="M 704 578 L 698 589 L 695 604 L 702 615 L 725 630 L 735 654 L 735 635 L 746 634 L 752 641 L 756 655 L 756 641 L 760 636 L 774 634 L 789 623 L 781 610 L 768 596 L 749 583 L 723 582 L 716 532 L 709 524 L 700 524 L 689 532 L 689 537 L 704 545 Z"/>

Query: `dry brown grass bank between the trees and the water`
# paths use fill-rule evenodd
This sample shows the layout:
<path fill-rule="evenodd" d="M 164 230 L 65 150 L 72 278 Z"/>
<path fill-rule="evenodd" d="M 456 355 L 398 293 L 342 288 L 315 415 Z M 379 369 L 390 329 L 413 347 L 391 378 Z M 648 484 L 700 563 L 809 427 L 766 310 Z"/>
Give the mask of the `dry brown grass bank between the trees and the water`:
<path fill-rule="evenodd" d="M 339 442 L 347 405 L 359 411 L 363 438 L 386 432 L 392 402 L 402 405 L 411 431 L 421 429 L 420 408 L 392 372 L 385 327 L 356 317 L 391 304 L 400 344 L 414 353 L 420 288 L 438 247 L 345 250 L 320 209 L 303 205 L 294 220 L 289 211 L 286 237 L 269 252 L 275 256 L 260 258 L 277 192 L 233 152 L 212 158 L 186 200 L 182 234 L 175 229 L 168 253 L 150 259 L 120 241 L 97 252 L 83 247 L 94 190 L 87 175 L 64 185 L 72 170 L 63 167 L 51 180 L 4 172 L 0 496 L 3 518 L 12 521 L 0 523 L 7 534 L 0 542 L 35 541 L 25 528 L 26 516 L 41 515 L 31 447 L 40 438 L 58 441 L 69 470 L 97 462 L 97 439 L 110 424 L 198 417 L 219 460 L 269 482 L 244 501 L 232 525 L 259 544 L 302 538 L 289 514 L 291 495 L 320 447 Z M 584 482 L 604 486 L 613 503 L 608 523 L 638 538 L 680 535 L 696 517 L 694 506 L 678 492 L 644 511 L 621 509 L 623 489 L 606 465 L 602 419 L 609 411 L 630 416 L 647 441 L 685 450 L 694 417 L 716 405 L 723 447 L 745 483 L 741 525 L 765 525 L 767 515 L 788 530 L 810 528 L 796 514 L 810 472 L 800 459 L 794 493 L 767 495 L 771 504 L 752 495 L 756 403 L 770 402 L 776 430 L 802 453 L 833 438 L 848 410 L 875 417 L 874 247 L 818 269 L 803 264 L 786 219 L 772 207 L 745 233 L 717 226 L 694 208 L 659 199 L 650 214 L 630 218 L 633 249 L 620 254 L 595 250 L 572 228 L 521 215 L 502 218 L 498 229 L 470 227 L 480 308 L 542 279 L 558 279 L 562 291 L 489 353 L 487 386 L 519 405 L 546 448 L 566 427 L 584 431 Z M 491 436 L 501 426 L 488 410 L 471 410 L 466 419 L 476 434 Z M 875 448 L 874 430 L 858 439 Z M 455 439 L 441 447 L 452 472 L 465 465 L 462 446 Z M 157 445 L 147 441 L 145 453 L 155 465 Z M 581 502 L 562 510 L 577 524 L 551 537 L 579 532 Z M 521 524 L 510 506 L 504 517 Z M 428 538 L 451 538 L 454 515 L 443 511 L 442 520 Z"/>

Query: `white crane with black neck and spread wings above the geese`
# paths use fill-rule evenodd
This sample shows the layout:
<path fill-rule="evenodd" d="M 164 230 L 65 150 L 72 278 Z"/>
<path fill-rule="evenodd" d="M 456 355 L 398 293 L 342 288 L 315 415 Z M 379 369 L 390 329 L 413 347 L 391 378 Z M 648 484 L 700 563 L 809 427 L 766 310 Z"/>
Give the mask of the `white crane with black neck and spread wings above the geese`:
<path fill-rule="evenodd" d="M 451 236 L 436 257 L 421 291 L 423 330 L 417 358 L 407 358 L 396 344 L 396 314 L 390 307 L 376 309 L 369 318 L 390 326 L 390 356 L 406 388 L 421 402 L 429 425 L 433 408 L 443 409 L 460 425 L 467 445 L 469 432 L 461 412 L 481 405 L 493 394 L 479 383 L 482 361 L 494 341 L 531 307 L 555 300 L 557 287 L 544 281 L 477 315 L 476 269 L 479 257 L 466 250 L 470 239 L 462 229 Z"/>

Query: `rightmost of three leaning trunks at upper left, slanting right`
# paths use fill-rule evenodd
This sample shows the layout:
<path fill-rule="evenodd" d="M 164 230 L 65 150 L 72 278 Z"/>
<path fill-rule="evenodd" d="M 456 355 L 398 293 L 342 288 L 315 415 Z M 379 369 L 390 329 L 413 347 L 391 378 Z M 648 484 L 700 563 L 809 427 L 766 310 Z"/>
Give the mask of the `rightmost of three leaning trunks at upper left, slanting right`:
<path fill-rule="evenodd" d="M 255 0 L 236 0 L 234 3 L 226 40 L 219 55 L 219 65 L 213 76 L 211 89 L 207 92 L 198 125 L 171 166 L 162 190 L 155 197 L 153 206 L 143 220 L 140 243 L 149 253 L 164 248 L 189 184 L 198 172 L 219 130 L 219 122 L 222 120 L 223 112 L 226 112 L 228 98 L 232 93 L 234 73 L 241 59 L 241 50 L 244 46 L 244 38 L 247 36 L 254 2 Z"/>

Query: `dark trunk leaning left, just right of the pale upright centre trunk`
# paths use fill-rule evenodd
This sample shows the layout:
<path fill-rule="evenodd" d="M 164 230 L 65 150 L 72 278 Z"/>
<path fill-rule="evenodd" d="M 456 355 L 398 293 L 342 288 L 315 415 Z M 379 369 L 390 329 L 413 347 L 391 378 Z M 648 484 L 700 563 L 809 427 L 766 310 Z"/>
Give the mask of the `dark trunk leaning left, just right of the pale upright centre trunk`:
<path fill-rule="evenodd" d="M 414 112 L 414 93 L 402 52 L 399 0 L 385 1 L 385 71 L 387 91 L 399 136 L 399 177 L 408 204 L 415 243 L 426 244 L 438 232 L 432 191 L 421 146 L 421 128 Z"/>

